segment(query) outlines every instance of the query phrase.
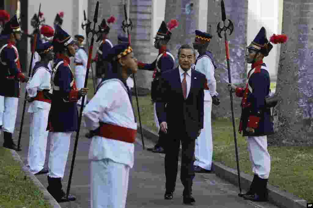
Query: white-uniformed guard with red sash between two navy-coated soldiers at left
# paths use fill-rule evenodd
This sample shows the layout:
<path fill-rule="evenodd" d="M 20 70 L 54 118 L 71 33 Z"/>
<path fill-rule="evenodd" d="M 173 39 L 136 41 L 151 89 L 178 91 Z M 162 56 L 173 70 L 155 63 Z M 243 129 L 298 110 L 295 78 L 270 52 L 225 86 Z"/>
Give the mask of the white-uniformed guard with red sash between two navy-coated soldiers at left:
<path fill-rule="evenodd" d="M 48 133 L 48 115 L 51 106 L 51 70 L 48 64 L 54 59 L 53 46 L 50 42 L 38 42 L 36 51 L 41 61 L 36 62 L 32 78 L 26 85 L 27 100 L 31 113 L 30 138 L 28 147 L 28 166 L 32 174 L 44 174 Z"/>

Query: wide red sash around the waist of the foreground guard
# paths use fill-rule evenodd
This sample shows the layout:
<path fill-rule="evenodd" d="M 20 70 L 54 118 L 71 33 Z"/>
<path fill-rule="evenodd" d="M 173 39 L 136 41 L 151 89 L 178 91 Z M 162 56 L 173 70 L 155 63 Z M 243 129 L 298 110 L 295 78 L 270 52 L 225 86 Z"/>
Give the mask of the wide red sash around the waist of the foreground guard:
<path fill-rule="evenodd" d="M 99 131 L 97 131 L 96 135 L 105 137 L 108 139 L 114 139 L 118 141 L 124 141 L 128 143 L 134 143 L 136 138 L 137 130 L 107 124 L 107 123 L 100 123 Z"/>

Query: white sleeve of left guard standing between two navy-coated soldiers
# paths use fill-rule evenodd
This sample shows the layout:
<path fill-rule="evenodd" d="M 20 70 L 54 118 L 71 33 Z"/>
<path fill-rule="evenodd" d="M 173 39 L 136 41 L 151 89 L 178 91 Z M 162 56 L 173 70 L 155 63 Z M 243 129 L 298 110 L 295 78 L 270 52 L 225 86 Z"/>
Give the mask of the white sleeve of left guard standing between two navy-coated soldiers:
<path fill-rule="evenodd" d="M 48 73 L 44 68 L 39 68 L 32 79 L 27 82 L 26 90 L 29 97 L 36 97 L 39 87 L 50 90 L 50 76 Z"/>

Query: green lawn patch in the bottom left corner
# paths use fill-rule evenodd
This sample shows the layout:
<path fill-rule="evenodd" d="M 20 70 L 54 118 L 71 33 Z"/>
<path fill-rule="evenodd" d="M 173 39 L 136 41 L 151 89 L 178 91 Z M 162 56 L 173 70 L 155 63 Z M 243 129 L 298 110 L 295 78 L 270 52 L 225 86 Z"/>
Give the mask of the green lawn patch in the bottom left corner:
<path fill-rule="evenodd" d="M 0 207 L 52 208 L 33 181 L 24 177 L 11 152 L 0 147 Z"/>

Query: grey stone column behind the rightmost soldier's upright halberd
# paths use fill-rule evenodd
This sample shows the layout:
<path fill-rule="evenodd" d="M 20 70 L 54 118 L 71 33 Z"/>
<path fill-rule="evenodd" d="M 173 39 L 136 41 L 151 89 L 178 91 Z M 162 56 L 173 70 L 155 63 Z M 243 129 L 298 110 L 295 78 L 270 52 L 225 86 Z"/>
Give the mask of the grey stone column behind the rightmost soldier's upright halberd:
<path fill-rule="evenodd" d="M 246 68 L 244 55 L 247 47 L 247 19 L 248 19 L 248 0 L 238 1 L 224 1 L 226 18 L 230 19 L 234 24 L 233 33 L 228 37 L 229 42 L 229 56 L 230 56 L 230 70 L 232 76 L 232 83 L 235 85 L 243 86 L 246 82 Z M 218 37 L 217 24 L 221 22 L 223 27 L 222 15 L 221 15 L 221 1 L 209 0 L 208 1 L 208 30 L 211 28 L 211 39 L 209 50 L 213 53 L 217 68 L 215 69 L 215 79 L 217 92 L 221 100 L 219 106 L 213 105 L 212 115 L 217 117 L 230 117 L 230 95 L 226 90 L 228 83 L 228 69 L 226 61 L 225 39 L 224 33 L 222 37 Z M 228 21 L 225 21 L 228 24 Z M 229 31 L 228 33 L 229 34 Z M 238 98 L 233 94 L 235 116 L 239 117 L 241 113 L 240 102 L 241 98 Z"/>

